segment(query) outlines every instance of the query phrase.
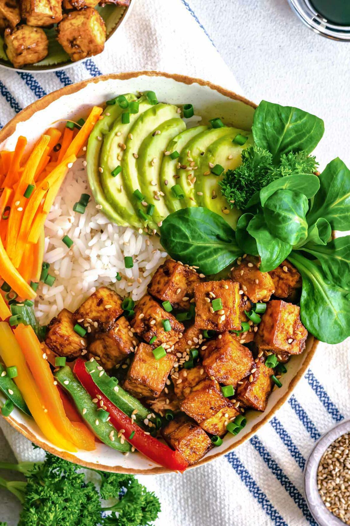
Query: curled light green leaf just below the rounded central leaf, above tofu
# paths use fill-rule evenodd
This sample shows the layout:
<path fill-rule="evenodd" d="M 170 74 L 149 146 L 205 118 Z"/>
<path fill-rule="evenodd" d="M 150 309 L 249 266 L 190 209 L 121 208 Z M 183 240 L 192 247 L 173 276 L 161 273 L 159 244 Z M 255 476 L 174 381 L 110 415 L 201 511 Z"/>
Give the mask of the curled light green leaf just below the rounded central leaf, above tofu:
<path fill-rule="evenodd" d="M 278 267 L 292 250 L 292 245 L 270 234 L 262 214 L 257 214 L 249 221 L 247 230 L 257 242 L 262 272 Z"/>

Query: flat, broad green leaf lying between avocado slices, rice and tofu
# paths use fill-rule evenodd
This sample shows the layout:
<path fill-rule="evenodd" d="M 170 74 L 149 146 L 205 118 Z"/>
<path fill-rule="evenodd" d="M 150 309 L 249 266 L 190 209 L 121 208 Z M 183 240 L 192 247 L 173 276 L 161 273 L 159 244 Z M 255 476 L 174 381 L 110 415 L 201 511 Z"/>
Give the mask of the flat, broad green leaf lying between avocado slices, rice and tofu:
<path fill-rule="evenodd" d="M 161 226 L 168 254 L 204 274 L 216 274 L 243 254 L 233 230 L 221 216 L 203 207 L 177 210 Z"/>

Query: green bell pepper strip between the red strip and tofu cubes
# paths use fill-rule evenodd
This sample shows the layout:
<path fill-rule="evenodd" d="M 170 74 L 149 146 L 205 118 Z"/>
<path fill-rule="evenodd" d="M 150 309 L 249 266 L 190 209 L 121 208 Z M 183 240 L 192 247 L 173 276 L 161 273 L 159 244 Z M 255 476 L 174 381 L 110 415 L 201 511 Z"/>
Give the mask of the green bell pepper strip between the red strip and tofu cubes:
<path fill-rule="evenodd" d="M 94 383 L 96 383 L 100 391 L 103 392 L 114 406 L 118 407 L 130 418 L 132 414 L 135 415 L 135 423 L 138 426 L 146 429 L 148 424 L 144 423 L 145 419 L 156 424 L 156 418 L 152 416 L 148 418 L 152 411 L 144 407 L 137 398 L 134 398 L 128 392 L 124 391 L 124 389 L 118 385 L 118 380 L 108 376 L 96 360 L 86 362 L 86 368 Z"/>

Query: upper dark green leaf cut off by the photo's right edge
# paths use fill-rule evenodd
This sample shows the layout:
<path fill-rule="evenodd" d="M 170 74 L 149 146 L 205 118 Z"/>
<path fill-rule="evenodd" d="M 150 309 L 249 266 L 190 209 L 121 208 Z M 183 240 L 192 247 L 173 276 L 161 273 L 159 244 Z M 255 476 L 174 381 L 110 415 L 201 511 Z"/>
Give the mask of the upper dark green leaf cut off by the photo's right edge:
<path fill-rule="evenodd" d="M 350 170 L 340 158 L 333 159 L 320 175 L 320 190 L 307 214 L 312 225 L 319 217 L 330 222 L 333 230 L 350 228 Z"/>

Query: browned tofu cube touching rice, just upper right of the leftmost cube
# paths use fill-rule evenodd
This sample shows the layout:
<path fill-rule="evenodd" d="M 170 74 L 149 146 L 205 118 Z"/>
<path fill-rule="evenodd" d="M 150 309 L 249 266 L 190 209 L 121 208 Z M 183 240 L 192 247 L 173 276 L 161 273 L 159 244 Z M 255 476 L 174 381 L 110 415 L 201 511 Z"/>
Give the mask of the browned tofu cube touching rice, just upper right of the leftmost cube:
<path fill-rule="evenodd" d="M 119 294 L 108 287 L 100 287 L 80 305 L 74 315 L 81 325 L 89 323 L 93 336 L 96 332 L 108 331 L 122 313 L 122 298 Z"/>

